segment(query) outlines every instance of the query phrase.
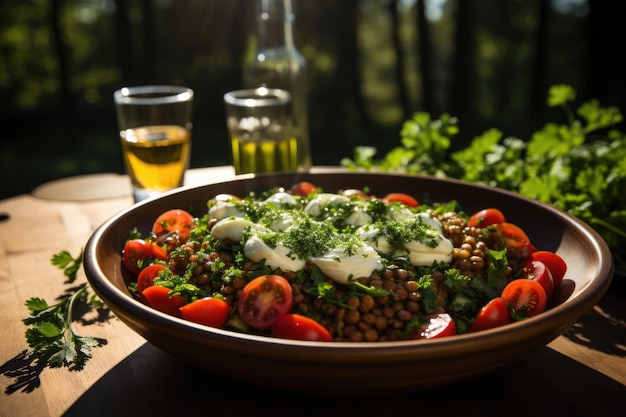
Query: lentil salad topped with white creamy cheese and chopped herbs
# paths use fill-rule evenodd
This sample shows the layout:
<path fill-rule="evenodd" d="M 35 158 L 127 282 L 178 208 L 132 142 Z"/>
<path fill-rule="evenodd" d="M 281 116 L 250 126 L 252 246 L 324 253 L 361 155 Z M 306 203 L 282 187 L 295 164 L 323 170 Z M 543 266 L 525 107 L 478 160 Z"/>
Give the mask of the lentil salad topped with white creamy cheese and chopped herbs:
<path fill-rule="evenodd" d="M 181 316 L 177 309 L 183 305 L 218 299 L 226 314 L 209 325 L 269 336 L 271 326 L 251 325 L 241 305 L 248 284 L 278 276 L 286 286 L 272 288 L 275 298 L 261 309 L 258 302 L 247 303 L 252 315 L 261 310 L 272 317 L 297 315 L 321 325 L 329 340 L 377 342 L 438 335 L 432 329 L 442 317 L 448 320 L 441 335 L 472 331 L 481 310 L 510 282 L 531 278 L 528 261 L 534 248 L 514 225 L 511 239 L 511 229 L 501 227 L 508 223 L 472 221 L 456 201 L 425 205 L 407 195 L 388 197 L 364 190 L 327 193 L 302 184 L 258 196 L 215 196 L 207 213 L 192 220 L 188 237 L 161 227 L 158 235 L 146 238 L 167 254 L 146 262 L 162 266 L 148 286 L 167 289 L 167 300 L 180 304 L 171 314 Z M 253 241 L 263 248 L 261 255 L 254 254 Z M 279 244 L 278 258 L 293 262 L 264 256 L 281 252 Z M 343 278 L 333 278 L 339 264 L 356 269 L 340 270 Z M 162 304 L 150 302 L 135 283 L 130 289 L 160 309 Z M 509 300 L 507 318 L 529 316 L 521 307 Z"/>

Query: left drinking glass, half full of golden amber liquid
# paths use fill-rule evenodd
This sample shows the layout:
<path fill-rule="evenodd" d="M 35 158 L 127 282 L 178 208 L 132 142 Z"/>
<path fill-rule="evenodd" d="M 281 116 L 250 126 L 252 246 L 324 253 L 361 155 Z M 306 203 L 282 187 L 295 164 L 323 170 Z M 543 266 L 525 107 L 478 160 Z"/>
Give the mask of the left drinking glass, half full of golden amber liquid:
<path fill-rule="evenodd" d="M 193 90 L 125 87 L 113 97 L 135 202 L 183 185 L 191 152 Z"/>

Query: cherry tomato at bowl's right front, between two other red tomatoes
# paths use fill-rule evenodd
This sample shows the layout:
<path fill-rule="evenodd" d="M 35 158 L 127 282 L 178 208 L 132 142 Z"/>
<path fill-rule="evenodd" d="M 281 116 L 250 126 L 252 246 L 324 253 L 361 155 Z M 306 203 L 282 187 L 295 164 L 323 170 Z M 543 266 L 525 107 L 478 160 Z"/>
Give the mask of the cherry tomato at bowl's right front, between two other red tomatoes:
<path fill-rule="evenodd" d="M 501 297 L 515 319 L 536 316 L 545 310 L 548 301 L 541 284 L 526 278 L 508 283 Z"/>

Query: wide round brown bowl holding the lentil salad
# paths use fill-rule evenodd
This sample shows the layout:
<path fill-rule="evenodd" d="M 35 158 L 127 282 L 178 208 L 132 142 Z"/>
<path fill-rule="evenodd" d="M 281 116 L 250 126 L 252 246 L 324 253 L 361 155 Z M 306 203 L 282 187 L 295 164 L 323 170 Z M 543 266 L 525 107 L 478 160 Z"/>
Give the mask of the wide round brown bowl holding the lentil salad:
<path fill-rule="evenodd" d="M 498 207 L 539 249 L 568 264 L 556 302 L 544 313 L 507 326 L 448 338 L 319 343 L 272 339 L 208 328 L 162 314 L 133 299 L 121 267 L 128 232 L 147 232 L 172 208 L 202 213 L 219 193 L 244 196 L 273 186 L 309 181 L 335 192 L 369 187 L 371 193 L 405 192 L 422 201 L 457 200 L 466 212 Z M 199 367 L 265 386 L 321 394 L 374 394 L 429 388 L 484 374 L 522 358 L 563 334 L 609 288 L 613 261 L 606 243 L 578 219 L 517 194 L 425 176 L 348 173 L 244 175 L 234 180 L 174 190 L 136 204 L 100 226 L 85 248 L 89 283 L 108 307 L 148 342 Z"/>

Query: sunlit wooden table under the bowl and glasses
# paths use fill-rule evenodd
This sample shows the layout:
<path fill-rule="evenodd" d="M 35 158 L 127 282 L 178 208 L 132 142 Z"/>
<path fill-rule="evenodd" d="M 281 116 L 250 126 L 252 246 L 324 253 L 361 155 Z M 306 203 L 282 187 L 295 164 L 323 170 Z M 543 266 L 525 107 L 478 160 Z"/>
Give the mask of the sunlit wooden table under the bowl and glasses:
<path fill-rule="evenodd" d="M 232 175 L 232 167 L 191 170 L 187 183 Z M 320 397 L 253 386 L 183 363 L 114 316 L 76 323 L 79 334 L 106 340 L 83 370 L 37 372 L 25 354 L 24 302 L 63 295 L 68 284 L 51 256 L 78 254 L 97 226 L 131 203 L 130 183 L 117 174 L 70 178 L 0 201 L 8 216 L 0 221 L 0 416 L 624 415 L 626 294 L 615 286 L 563 336 L 523 360 L 415 393 Z"/>

